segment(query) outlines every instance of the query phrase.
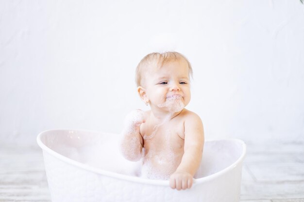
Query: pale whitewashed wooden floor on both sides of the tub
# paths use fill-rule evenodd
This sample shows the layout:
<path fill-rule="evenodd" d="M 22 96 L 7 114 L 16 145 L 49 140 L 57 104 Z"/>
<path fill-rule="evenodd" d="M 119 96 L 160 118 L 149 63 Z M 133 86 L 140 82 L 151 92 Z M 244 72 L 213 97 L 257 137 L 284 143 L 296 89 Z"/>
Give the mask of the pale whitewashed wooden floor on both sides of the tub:
<path fill-rule="evenodd" d="M 304 202 L 304 143 L 247 143 L 241 202 Z M 51 202 L 42 151 L 0 144 L 0 202 Z"/>

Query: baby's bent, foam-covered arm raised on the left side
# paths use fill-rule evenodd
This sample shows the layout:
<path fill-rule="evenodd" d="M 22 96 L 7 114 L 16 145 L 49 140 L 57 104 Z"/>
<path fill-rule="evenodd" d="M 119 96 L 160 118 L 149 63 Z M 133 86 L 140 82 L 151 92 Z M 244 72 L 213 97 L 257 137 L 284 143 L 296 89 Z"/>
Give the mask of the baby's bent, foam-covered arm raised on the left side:
<path fill-rule="evenodd" d="M 145 123 L 144 111 L 140 109 L 131 111 L 125 118 L 121 152 L 130 161 L 138 161 L 141 158 L 143 138 L 140 135 L 140 125 L 142 123 Z"/>

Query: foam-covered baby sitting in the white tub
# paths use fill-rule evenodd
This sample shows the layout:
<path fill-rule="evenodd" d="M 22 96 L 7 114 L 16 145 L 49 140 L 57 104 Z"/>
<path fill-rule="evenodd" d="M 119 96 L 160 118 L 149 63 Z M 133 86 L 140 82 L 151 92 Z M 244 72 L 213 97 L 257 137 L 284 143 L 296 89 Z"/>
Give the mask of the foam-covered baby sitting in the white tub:
<path fill-rule="evenodd" d="M 121 150 L 130 161 L 142 160 L 141 175 L 170 180 L 171 188 L 190 188 L 204 144 L 200 117 L 185 109 L 190 101 L 192 68 L 178 52 L 151 53 L 136 69 L 137 91 L 151 110 L 126 117 Z"/>

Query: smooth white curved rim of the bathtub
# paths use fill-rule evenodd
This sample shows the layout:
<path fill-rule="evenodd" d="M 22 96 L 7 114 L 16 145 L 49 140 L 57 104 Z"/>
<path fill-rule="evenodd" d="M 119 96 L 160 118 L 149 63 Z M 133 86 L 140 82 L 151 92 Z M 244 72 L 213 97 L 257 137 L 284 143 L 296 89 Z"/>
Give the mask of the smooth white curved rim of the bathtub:
<path fill-rule="evenodd" d="M 56 157 L 57 159 L 61 160 L 62 162 L 68 163 L 68 164 L 70 164 L 72 166 L 75 166 L 77 168 L 84 169 L 85 171 L 91 171 L 93 173 L 97 173 L 97 174 L 101 174 L 101 175 L 105 175 L 105 176 L 108 176 L 108 177 L 121 179 L 121 180 L 125 180 L 125 181 L 131 181 L 131 182 L 135 182 L 135 183 L 142 183 L 142 184 L 156 185 L 156 186 L 169 186 L 169 181 L 168 180 L 151 180 L 151 179 L 145 179 L 145 178 L 140 178 L 140 177 L 136 177 L 136 176 L 129 176 L 129 175 L 124 175 L 124 174 L 119 174 L 119 173 L 111 172 L 111 171 L 105 171 L 105 170 L 102 170 L 102 169 L 99 169 L 99 168 L 95 168 L 93 166 L 86 165 L 86 164 L 81 163 L 79 161 L 70 159 L 70 158 L 68 158 L 64 155 L 61 155 L 61 154 L 55 152 L 54 150 L 52 150 L 51 148 L 49 148 L 41 140 L 41 137 L 45 133 L 51 132 L 51 131 L 54 131 L 54 132 L 55 131 L 77 131 L 77 132 L 107 133 L 107 134 L 116 134 L 116 133 L 108 133 L 108 132 L 94 131 L 94 130 L 78 130 L 78 129 L 49 129 L 49 130 L 45 130 L 45 131 L 40 132 L 37 135 L 36 141 L 37 141 L 37 144 L 39 145 L 39 147 L 42 149 L 43 152 L 47 152 L 49 155 L 51 155 L 53 157 Z M 234 163 L 232 163 L 230 166 L 226 167 L 225 169 L 223 169 L 221 171 L 218 171 L 216 173 L 213 173 L 211 175 L 202 177 L 202 178 L 193 179 L 193 185 L 192 186 L 196 186 L 197 184 L 201 184 L 201 183 L 204 183 L 204 182 L 211 181 L 211 180 L 213 180 L 217 177 L 220 177 L 225 172 L 228 172 L 228 171 L 234 169 L 237 165 L 242 163 L 240 161 L 243 161 L 243 159 L 244 159 L 244 157 L 247 153 L 246 143 L 243 140 L 229 138 L 229 139 L 205 140 L 204 142 L 211 142 L 211 141 L 238 142 L 239 144 L 242 145 L 242 154 L 237 158 L 237 160 Z"/>

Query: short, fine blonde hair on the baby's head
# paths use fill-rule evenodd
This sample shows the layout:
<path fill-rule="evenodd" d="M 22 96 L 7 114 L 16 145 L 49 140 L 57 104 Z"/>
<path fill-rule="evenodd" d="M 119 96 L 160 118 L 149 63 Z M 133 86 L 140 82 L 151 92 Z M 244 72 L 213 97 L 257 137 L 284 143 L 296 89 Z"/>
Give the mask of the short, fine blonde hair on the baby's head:
<path fill-rule="evenodd" d="M 184 59 L 189 67 L 189 75 L 192 77 L 193 71 L 190 62 L 188 59 L 179 52 L 164 52 L 164 53 L 150 53 L 146 55 L 137 65 L 135 72 L 135 82 L 137 86 L 141 85 L 141 78 L 144 70 L 148 66 L 157 66 L 162 67 L 167 62 L 174 62 Z"/>

